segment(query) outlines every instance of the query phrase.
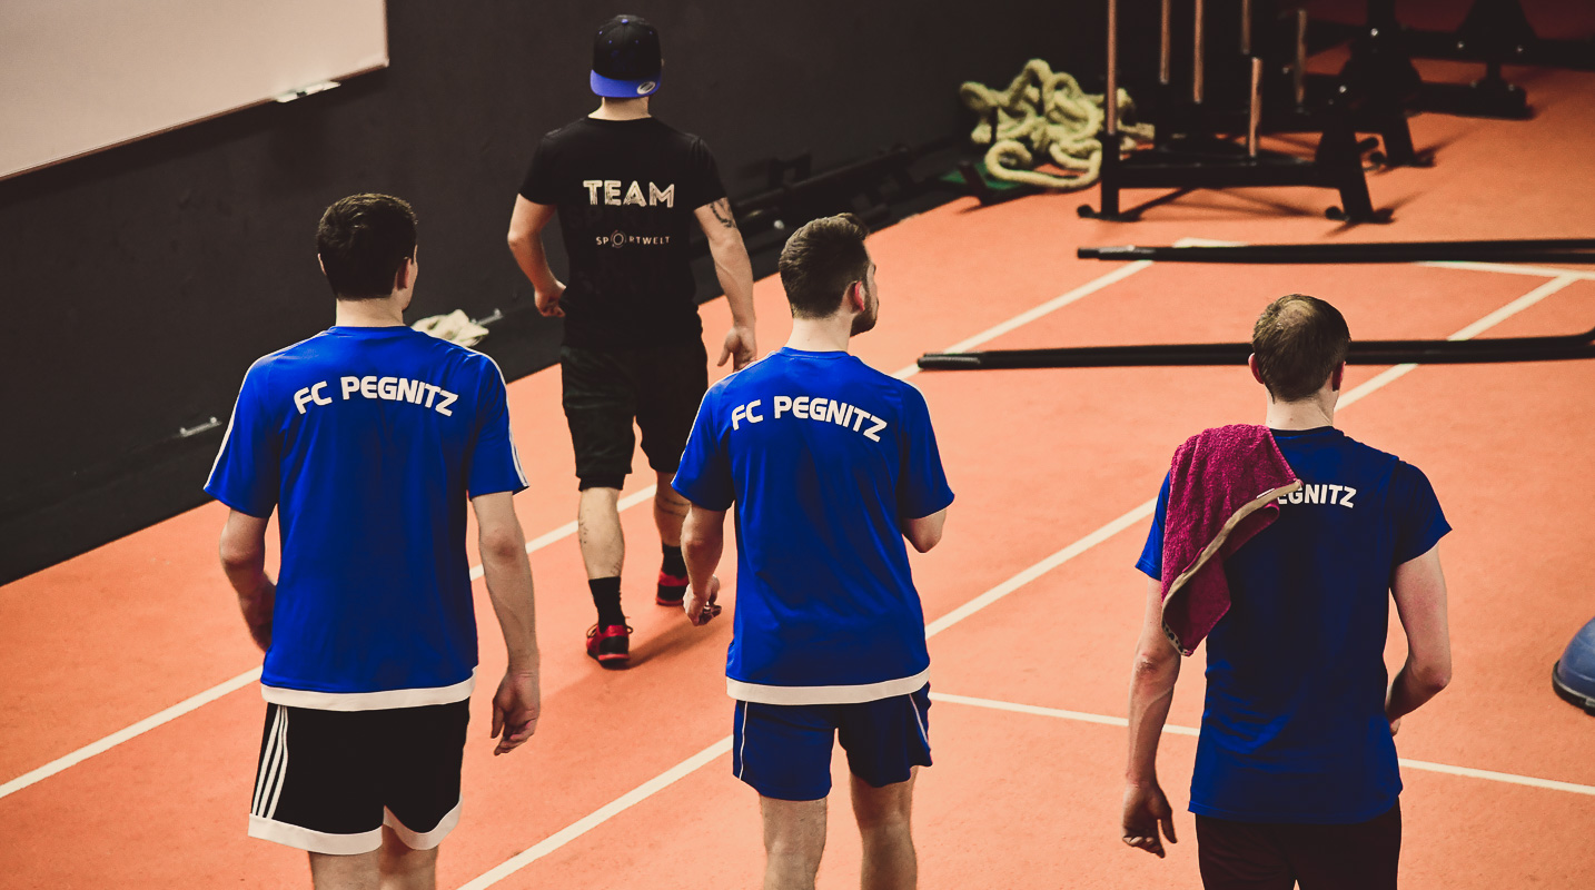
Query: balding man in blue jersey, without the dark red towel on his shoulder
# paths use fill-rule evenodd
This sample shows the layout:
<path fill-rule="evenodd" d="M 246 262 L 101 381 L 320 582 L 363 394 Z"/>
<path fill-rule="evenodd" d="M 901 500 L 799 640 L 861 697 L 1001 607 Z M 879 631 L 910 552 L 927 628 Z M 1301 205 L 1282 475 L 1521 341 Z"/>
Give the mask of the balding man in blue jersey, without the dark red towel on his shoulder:
<path fill-rule="evenodd" d="M 1274 300 L 1252 332 L 1266 424 L 1303 482 L 1273 525 L 1223 561 L 1230 611 L 1207 636 L 1207 702 L 1190 809 L 1203 884 L 1215 888 L 1396 887 L 1400 718 L 1450 681 L 1450 525 L 1418 467 L 1337 431 L 1351 333 L 1313 297 Z M 1163 855 L 1174 817 L 1156 777 L 1158 734 L 1180 656 L 1163 628 L 1164 478 L 1137 568 L 1147 619 L 1129 692 L 1123 839 Z M 1179 569 L 1176 569 L 1179 571 Z M 1386 687 L 1389 598 L 1407 662 Z"/>

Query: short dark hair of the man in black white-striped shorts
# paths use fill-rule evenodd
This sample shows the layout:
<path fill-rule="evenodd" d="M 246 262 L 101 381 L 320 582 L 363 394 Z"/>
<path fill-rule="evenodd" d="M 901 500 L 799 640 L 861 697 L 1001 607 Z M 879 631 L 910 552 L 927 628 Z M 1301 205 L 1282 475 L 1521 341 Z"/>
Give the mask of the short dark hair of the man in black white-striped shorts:
<path fill-rule="evenodd" d="M 340 300 L 375 300 L 415 257 L 415 211 L 392 195 L 349 195 L 321 215 L 316 252 Z"/>

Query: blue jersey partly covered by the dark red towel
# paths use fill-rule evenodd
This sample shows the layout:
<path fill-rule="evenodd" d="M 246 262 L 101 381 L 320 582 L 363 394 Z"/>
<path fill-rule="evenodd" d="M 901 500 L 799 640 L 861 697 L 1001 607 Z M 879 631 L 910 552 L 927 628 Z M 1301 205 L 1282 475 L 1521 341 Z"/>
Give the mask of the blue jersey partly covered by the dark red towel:
<path fill-rule="evenodd" d="M 1300 490 L 1223 571 L 1230 612 L 1207 636 L 1193 813 L 1343 825 L 1396 804 L 1384 638 L 1396 566 L 1451 530 L 1428 477 L 1333 427 L 1274 431 Z M 1163 480 L 1136 568 L 1163 576 Z"/>

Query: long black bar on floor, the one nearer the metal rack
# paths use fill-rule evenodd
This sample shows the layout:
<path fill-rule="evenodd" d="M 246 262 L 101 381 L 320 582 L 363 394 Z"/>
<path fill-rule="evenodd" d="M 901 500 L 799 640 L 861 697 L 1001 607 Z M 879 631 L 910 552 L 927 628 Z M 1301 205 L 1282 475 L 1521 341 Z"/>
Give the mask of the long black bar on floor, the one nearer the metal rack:
<path fill-rule="evenodd" d="M 1215 247 L 1080 247 L 1081 260 L 1171 263 L 1595 263 L 1595 238 L 1389 241 L 1375 244 L 1235 244 Z"/>

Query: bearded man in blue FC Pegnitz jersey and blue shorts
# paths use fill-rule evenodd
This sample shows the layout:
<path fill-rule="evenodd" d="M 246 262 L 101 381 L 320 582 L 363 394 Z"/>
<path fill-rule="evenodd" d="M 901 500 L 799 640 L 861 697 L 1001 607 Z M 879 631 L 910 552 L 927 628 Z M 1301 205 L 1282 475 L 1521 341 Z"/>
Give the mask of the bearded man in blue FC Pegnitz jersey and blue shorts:
<path fill-rule="evenodd" d="M 726 512 L 737 507 L 732 770 L 759 793 L 766 890 L 813 887 L 831 740 L 852 769 L 863 885 L 916 884 L 909 804 L 930 766 L 925 616 L 909 574 L 941 541 L 952 490 L 925 397 L 849 354 L 874 327 L 874 263 L 852 214 L 788 239 L 786 346 L 710 388 L 676 490 L 692 624 L 715 616 Z"/>

